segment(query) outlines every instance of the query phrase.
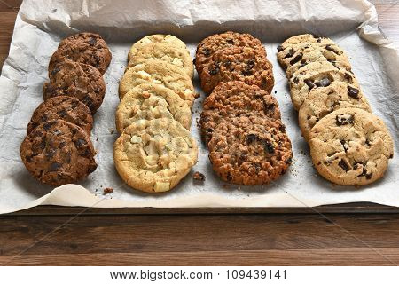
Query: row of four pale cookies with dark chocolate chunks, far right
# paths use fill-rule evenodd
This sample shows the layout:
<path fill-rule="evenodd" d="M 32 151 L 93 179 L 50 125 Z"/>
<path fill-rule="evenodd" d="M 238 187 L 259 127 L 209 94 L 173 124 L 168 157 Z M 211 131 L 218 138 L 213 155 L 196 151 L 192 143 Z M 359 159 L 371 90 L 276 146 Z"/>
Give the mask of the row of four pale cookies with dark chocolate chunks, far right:
<path fill-rule="evenodd" d="M 278 46 L 278 61 L 319 174 L 338 185 L 383 177 L 393 140 L 372 114 L 340 46 L 323 36 L 292 36 Z"/>

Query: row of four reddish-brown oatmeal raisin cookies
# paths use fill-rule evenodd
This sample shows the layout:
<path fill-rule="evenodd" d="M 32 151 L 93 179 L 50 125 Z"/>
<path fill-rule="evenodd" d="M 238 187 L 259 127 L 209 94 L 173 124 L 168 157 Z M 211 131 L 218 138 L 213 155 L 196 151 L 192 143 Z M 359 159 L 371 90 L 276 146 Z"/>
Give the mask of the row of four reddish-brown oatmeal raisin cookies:
<path fill-rule="evenodd" d="M 272 66 L 262 43 L 248 34 L 208 36 L 195 65 L 210 93 L 200 118 L 201 134 L 215 172 L 227 182 L 262 185 L 292 162 L 291 141 L 270 95 Z"/>

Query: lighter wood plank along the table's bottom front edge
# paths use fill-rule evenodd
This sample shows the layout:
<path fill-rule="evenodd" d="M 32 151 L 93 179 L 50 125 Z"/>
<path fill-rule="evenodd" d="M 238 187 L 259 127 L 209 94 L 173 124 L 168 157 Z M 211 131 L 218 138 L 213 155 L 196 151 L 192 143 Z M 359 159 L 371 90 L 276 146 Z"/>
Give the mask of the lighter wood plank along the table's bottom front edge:
<path fill-rule="evenodd" d="M 399 248 L 190 251 L 0 256 L 8 265 L 396 265 Z"/>

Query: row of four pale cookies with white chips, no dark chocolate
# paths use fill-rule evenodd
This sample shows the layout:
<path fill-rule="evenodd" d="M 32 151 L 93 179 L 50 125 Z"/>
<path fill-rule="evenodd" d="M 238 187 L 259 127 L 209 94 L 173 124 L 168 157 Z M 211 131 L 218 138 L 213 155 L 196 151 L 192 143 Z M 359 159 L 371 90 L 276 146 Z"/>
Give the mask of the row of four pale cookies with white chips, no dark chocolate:
<path fill-rule="evenodd" d="M 115 115 L 115 167 L 135 189 L 166 192 L 197 162 L 192 59 L 176 36 L 151 35 L 132 45 L 128 60 Z"/>

